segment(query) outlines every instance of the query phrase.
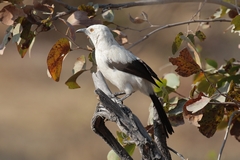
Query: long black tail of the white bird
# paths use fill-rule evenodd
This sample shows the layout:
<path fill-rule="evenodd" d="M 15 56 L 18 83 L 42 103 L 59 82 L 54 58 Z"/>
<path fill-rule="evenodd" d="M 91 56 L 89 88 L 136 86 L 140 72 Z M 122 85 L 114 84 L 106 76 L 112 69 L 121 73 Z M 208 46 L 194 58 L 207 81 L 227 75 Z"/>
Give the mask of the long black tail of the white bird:
<path fill-rule="evenodd" d="M 169 134 L 172 134 L 174 131 L 173 131 L 173 128 L 172 128 L 172 125 L 163 109 L 163 106 L 162 104 L 160 103 L 160 101 L 158 100 L 158 97 L 155 95 L 155 94 L 152 94 L 152 95 L 149 95 L 150 98 L 152 99 L 152 102 L 158 112 L 158 116 L 162 122 L 162 125 L 164 127 L 164 130 L 166 132 L 166 136 L 168 137 L 168 133 Z"/>

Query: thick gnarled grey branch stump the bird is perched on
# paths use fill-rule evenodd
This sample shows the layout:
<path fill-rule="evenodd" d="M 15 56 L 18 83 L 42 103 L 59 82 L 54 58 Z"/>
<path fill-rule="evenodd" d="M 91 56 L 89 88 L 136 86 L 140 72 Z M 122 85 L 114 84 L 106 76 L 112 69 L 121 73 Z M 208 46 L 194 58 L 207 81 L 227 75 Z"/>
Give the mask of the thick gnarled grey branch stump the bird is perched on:
<path fill-rule="evenodd" d="M 100 135 L 121 159 L 130 160 L 132 158 L 126 153 L 124 148 L 116 141 L 112 133 L 105 126 L 105 120 L 115 122 L 119 129 L 131 138 L 139 148 L 143 160 L 171 160 L 166 145 L 166 135 L 164 135 L 161 129 L 162 124 L 159 123 L 159 125 L 156 125 L 154 128 L 154 130 L 158 132 L 156 134 L 156 136 L 159 136 L 157 139 L 160 139 L 158 143 L 165 141 L 165 144 L 161 145 L 160 150 L 160 148 L 158 148 L 159 144 L 153 141 L 140 120 L 131 110 L 119 103 L 116 97 L 112 98 L 112 93 L 109 91 L 101 72 L 98 71 L 93 73 L 92 77 L 96 87 L 96 93 L 99 95 L 100 99 L 100 103 L 92 119 L 93 131 Z M 102 90 L 105 91 L 106 94 Z M 156 111 L 155 115 L 157 115 Z M 164 152 L 162 152 L 162 147 L 164 147 Z"/>

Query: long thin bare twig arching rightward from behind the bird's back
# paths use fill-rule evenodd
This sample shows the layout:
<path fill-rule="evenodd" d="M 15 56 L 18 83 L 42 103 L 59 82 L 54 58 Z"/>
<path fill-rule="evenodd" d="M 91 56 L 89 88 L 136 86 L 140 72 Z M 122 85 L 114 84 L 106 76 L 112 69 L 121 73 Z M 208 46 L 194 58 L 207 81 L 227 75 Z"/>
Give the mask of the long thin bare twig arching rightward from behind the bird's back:
<path fill-rule="evenodd" d="M 184 21 L 184 22 L 167 24 L 167 25 L 161 26 L 161 27 L 153 30 L 152 32 L 148 33 L 142 39 L 133 43 L 130 47 L 128 47 L 128 49 L 131 49 L 132 47 L 136 46 L 137 44 L 143 42 L 148 37 L 150 37 L 152 34 L 158 32 L 160 30 L 163 30 L 163 29 L 166 29 L 166 28 L 171 28 L 171 27 L 176 27 L 176 26 L 180 26 L 180 25 L 190 24 L 190 23 L 201 23 L 201 22 L 231 22 L 231 20 L 230 19 L 203 19 L 203 20 L 189 20 L 189 21 Z"/>

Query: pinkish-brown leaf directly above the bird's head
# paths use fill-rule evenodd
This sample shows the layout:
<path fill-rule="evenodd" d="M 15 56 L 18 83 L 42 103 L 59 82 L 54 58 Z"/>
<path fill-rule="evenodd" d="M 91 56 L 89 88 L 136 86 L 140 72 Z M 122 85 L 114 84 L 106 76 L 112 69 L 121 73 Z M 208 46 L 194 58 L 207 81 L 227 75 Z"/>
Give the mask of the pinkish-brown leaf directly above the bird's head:
<path fill-rule="evenodd" d="M 71 14 L 68 17 L 67 22 L 73 26 L 84 25 L 86 27 L 91 26 L 93 24 L 101 24 L 100 20 L 95 20 L 93 18 L 89 18 L 88 13 L 85 11 L 73 12 L 73 14 Z"/>

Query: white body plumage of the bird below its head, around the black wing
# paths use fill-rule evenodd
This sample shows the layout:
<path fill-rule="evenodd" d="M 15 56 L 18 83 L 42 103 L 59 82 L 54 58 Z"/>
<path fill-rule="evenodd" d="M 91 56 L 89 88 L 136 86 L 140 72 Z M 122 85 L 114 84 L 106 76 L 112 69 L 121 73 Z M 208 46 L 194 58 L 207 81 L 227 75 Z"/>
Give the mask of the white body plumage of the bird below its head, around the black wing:
<path fill-rule="evenodd" d="M 125 53 L 123 54 L 123 52 Z M 148 81 L 108 66 L 108 63 L 111 61 L 121 62 L 122 59 L 125 59 L 125 61 L 121 63 L 130 63 L 131 61 L 135 60 L 136 57 L 128 52 L 129 51 L 125 50 L 124 48 L 114 45 L 108 50 L 96 49 L 95 59 L 98 69 L 102 72 L 103 76 L 107 80 L 115 85 L 120 91 L 124 91 L 126 94 L 131 94 L 137 90 L 140 90 L 145 94 L 149 94 L 152 92 L 149 91 L 152 90 L 152 86 Z M 111 59 L 109 59 L 109 57 L 111 57 Z"/>

